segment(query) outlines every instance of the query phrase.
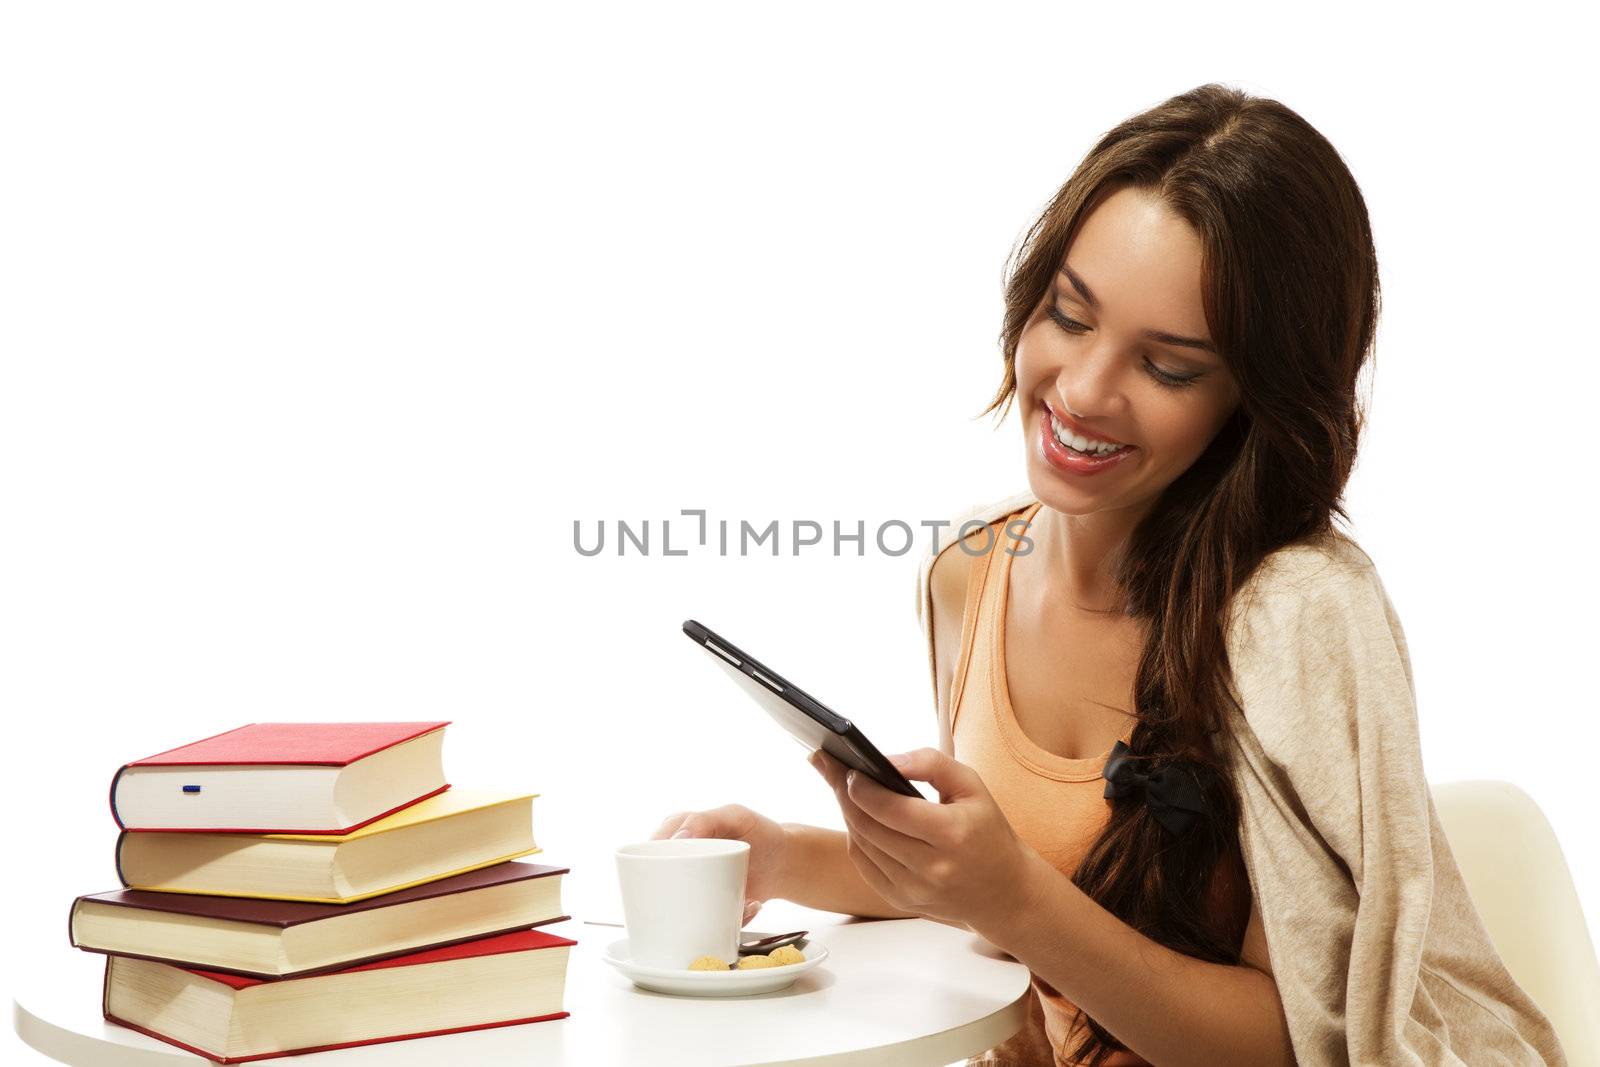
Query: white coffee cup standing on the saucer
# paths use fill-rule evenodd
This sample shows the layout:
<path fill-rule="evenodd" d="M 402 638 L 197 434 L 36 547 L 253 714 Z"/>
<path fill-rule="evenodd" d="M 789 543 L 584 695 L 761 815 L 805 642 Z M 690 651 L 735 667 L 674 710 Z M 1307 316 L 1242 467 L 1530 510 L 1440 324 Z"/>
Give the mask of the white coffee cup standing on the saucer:
<path fill-rule="evenodd" d="M 688 969 L 699 957 L 739 961 L 750 843 L 678 837 L 616 849 L 634 963 Z"/>

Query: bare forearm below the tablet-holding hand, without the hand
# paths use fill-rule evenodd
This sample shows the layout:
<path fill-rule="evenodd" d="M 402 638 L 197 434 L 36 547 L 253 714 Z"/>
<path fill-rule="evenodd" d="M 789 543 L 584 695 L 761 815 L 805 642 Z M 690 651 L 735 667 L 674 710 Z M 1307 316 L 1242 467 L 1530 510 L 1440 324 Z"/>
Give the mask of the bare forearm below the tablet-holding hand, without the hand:
<path fill-rule="evenodd" d="M 1259 909 L 1251 909 L 1243 963 L 1206 963 L 1138 933 L 1043 857 L 1029 870 L 1029 904 L 973 931 L 1123 1045 L 1160 1067 L 1294 1064 Z"/>

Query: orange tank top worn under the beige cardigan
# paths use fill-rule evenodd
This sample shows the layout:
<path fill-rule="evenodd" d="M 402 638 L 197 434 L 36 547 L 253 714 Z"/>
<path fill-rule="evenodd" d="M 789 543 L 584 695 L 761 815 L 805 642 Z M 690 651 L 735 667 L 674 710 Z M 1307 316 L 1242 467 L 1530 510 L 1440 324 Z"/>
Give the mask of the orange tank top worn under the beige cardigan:
<path fill-rule="evenodd" d="M 1018 837 L 1070 877 L 1110 817 L 1112 801 L 1106 798 L 1101 776 L 1110 752 L 1082 760 L 1056 755 L 1022 733 L 1011 709 L 1005 616 L 1016 550 L 1013 522 L 1021 515 L 1030 523 L 1038 509 L 1035 502 L 992 523 L 987 555 L 971 561 L 962 648 L 950 681 L 950 729 L 955 758 L 979 773 Z M 1131 742 L 1134 725 L 1130 718 L 1123 742 Z M 1230 888 L 1237 894 L 1237 883 Z M 1029 985 L 1029 1021 L 1022 1030 L 970 1059 L 968 1065 L 1069 1067 L 1082 1062 L 1067 1057 L 1067 1049 L 1083 1038 L 1075 1030 L 1077 1006 L 1037 974 Z M 1112 1053 L 1104 1062 L 1107 1067 L 1149 1065 L 1131 1051 Z"/>

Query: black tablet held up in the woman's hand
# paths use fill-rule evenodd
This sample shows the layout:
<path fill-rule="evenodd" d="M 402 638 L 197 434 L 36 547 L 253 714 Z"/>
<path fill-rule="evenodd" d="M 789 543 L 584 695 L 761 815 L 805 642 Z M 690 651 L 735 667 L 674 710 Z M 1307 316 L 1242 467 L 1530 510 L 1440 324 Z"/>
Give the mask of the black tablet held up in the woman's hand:
<path fill-rule="evenodd" d="M 683 624 L 683 632 L 808 752 L 826 749 L 830 757 L 885 789 L 926 800 L 853 721 L 840 718 L 810 693 L 694 619 Z"/>

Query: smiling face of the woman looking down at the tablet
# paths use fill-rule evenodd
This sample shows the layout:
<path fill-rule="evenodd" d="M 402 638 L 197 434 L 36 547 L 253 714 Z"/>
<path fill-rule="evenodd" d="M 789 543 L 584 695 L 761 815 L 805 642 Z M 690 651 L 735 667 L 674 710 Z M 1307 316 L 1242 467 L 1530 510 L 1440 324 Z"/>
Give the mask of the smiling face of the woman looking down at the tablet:
<path fill-rule="evenodd" d="M 1238 405 L 1208 350 L 1200 238 L 1160 200 L 1122 189 L 1085 219 L 1018 342 L 1029 486 L 1067 515 L 1144 512 Z M 1109 458 L 1061 443 L 1122 443 Z"/>

